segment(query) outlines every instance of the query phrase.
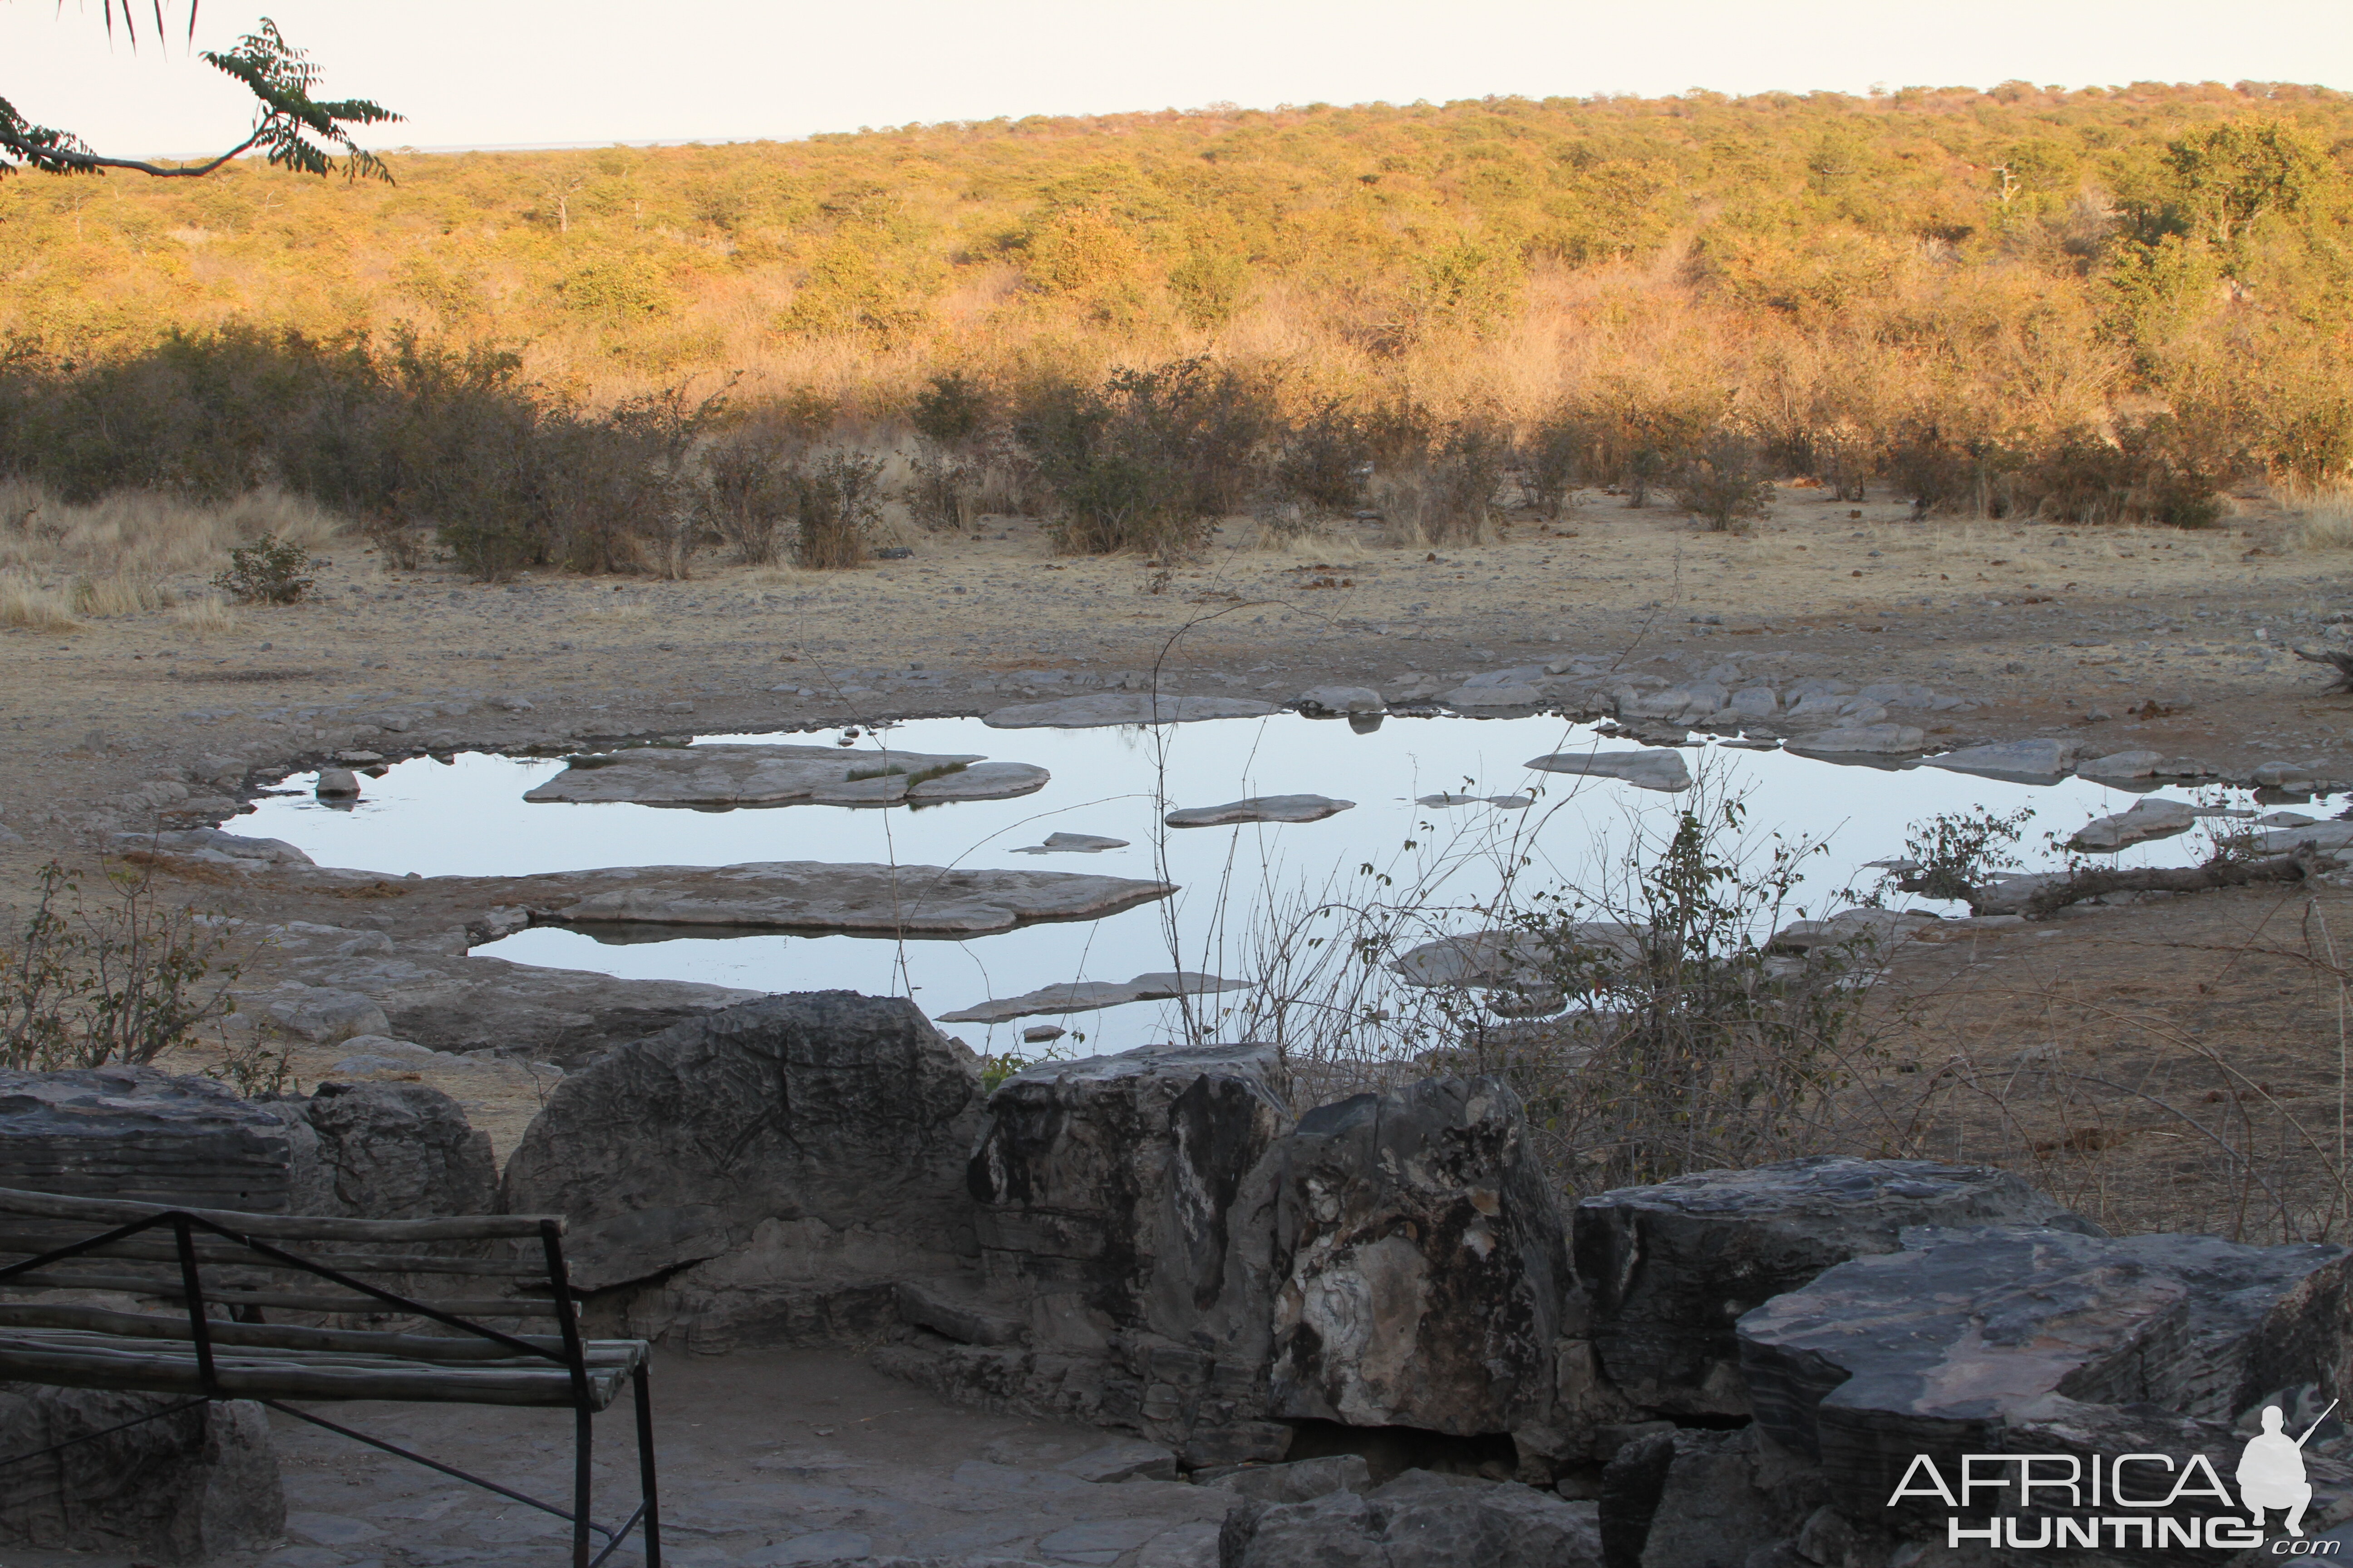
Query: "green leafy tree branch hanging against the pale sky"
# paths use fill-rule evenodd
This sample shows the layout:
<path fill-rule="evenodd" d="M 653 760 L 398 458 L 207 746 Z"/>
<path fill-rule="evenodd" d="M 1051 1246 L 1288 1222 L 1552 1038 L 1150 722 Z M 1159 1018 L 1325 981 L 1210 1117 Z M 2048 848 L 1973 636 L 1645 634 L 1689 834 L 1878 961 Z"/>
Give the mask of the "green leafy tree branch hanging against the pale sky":
<path fill-rule="evenodd" d="M 162 33 L 165 0 L 151 0 L 151 5 L 155 31 Z M 136 16 L 129 0 L 122 0 L 120 14 L 115 0 L 106 0 L 106 33 L 113 35 L 120 19 L 132 47 L 139 45 Z M 188 35 L 195 35 L 195 0 L 188 5 Z M 344 179 L 362 174 L 381 181 L 393 179 L 384 160 L 351 139 L 351 127 L 386 125 L 400 120 L 400 115 L 369 99 L 313 99 L 318 66 L 311 63 L 308 54 L 289 45 L 268 16 L 261 19 L 256 33 L 240 38 L 235 49 L 226 54 L 205 49 L 198 59 L 235 78 L 254 94 L 252 134 L 219 158 L 191 165 L 108 158 L 73 132 L 33 125 L 16 113 L 14 103 L 0 99 L 0 176 L 19 169 L 38 169 L 42 174 L 132 169 L 136 174 L 153 174 L 155 179 L 202 179 L 231 158 L 259 150 L 268 162 L 296 174 L 332 174 L 341 167 Z"/>

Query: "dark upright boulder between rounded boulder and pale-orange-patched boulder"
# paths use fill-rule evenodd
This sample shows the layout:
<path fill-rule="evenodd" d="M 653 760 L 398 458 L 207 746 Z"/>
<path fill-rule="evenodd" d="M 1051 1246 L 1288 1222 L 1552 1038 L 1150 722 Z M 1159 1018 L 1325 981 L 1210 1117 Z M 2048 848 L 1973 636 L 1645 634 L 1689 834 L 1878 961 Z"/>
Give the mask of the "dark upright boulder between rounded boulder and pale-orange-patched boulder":
<path fill-rule="evenodd" d="M 1101 1415 L 1155 1439 L 1242 1427 L 1233 1458 L 1280 1458 L 1252 1425 L 1289 1126 L 1275 1072 L 1271 1046 L 1040 1063 L 991 1095 L 967 1168 L 984 1286 L 1031 1345 L 1101 1366 Z"/>

